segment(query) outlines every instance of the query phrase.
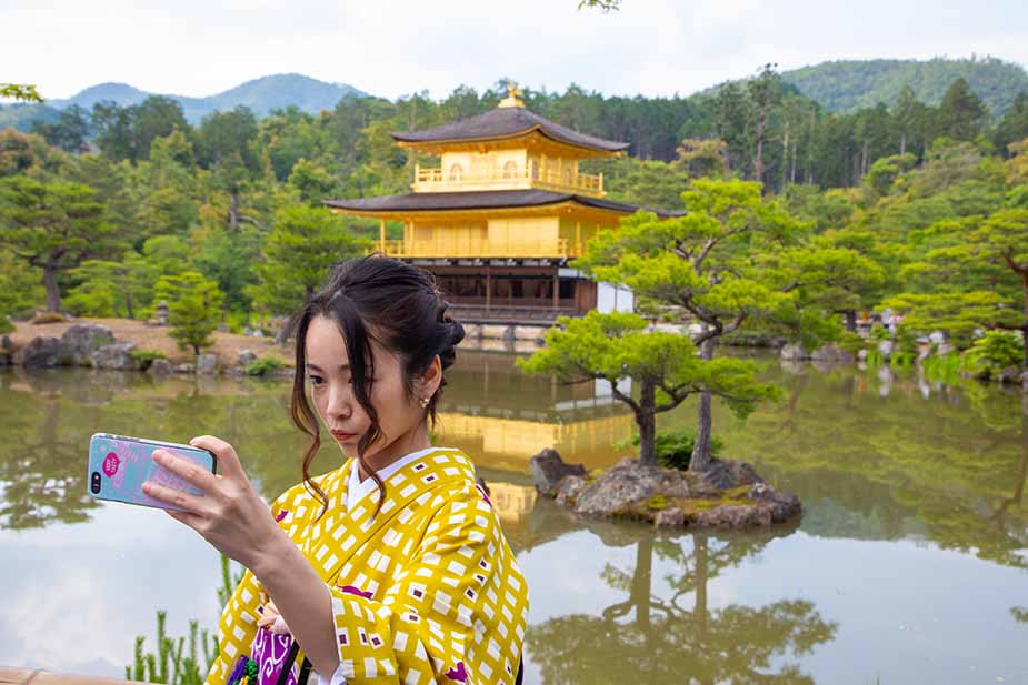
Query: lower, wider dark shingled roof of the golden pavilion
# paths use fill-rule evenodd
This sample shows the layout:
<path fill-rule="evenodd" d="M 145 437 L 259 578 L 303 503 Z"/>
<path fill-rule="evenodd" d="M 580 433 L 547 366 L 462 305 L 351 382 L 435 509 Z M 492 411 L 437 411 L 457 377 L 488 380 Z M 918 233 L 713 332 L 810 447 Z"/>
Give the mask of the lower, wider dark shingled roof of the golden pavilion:
<path fill-rule="evenodd" d="M 635 204 L 558 193 L 549 190 L 480 190 L 457 193 L 408 193 L 406 195 L 380 195 L 361 200 L 326 200 L 325 204 L 340 210 L 357 212 L 432 212 L 453 210 L 486 210 L 522 206 L 545 206 L 561 202 L 577 202 L 585 206 L 632 214 L 639 209 Z M 649 210 L 661 218 L 681 216 L 685 212 Z"/>

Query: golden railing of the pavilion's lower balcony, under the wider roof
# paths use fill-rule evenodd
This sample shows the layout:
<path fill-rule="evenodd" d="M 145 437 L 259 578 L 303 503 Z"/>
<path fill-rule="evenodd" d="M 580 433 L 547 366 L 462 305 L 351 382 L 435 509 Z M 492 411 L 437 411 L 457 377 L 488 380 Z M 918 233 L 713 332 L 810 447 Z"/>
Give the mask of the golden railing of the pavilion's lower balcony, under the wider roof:
<path fill-rule="evenodd" d="M 465 236 L 440 236 L 429 240 L 387 240 L 377 244 L 389 256 L 438 259 L 543 259 L 570 258 L 567 239 L 476 240 Z"/>

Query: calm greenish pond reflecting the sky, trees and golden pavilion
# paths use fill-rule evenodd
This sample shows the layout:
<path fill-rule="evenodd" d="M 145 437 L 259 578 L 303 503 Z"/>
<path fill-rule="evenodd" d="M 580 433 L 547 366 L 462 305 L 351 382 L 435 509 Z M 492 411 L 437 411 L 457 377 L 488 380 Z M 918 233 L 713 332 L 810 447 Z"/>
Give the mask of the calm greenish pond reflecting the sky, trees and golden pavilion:
<path fill-rule="evenodd" d="M 609 465 L 632 422 L 602 387 L 462 353 L 437 444 L 463 447 L 531 591 L 526 683 L 1028 683 L 1028 419 L 1020 393 L 888 369 L 765 362 L 782 397 L 725 452 L 806 512 L 767 532 L 655 534 L 537 500 L 528 459 Z M 0 664 L 113 675 L 136 635 L 213 627 L 219 558 L 161 512 L 97 505 L 98 431 L 232 442 L 261 492 L 298 480 L 287 382 L 0 373 Z M 659 420 L 689 427 L 692 406 Z M 338 453 L 319 455 L 320 471 Z"/>

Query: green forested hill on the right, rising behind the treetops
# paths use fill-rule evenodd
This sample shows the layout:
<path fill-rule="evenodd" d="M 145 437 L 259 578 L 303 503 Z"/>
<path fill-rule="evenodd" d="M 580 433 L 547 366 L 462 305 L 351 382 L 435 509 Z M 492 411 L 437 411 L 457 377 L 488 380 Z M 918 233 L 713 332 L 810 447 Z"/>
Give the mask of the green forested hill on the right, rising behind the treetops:
<path fill-rule="evenodd" d="M 918 99 L 938 104 L 964 77 L 994 115 L 1001 117 L 1019 92 L 1028 92 L 1028 72 L 996 58 L 844 60 L 782 72 L 782 79 L 832 112 L 851 112 L 879 102 L 892 104 L 905 85 Z"/>

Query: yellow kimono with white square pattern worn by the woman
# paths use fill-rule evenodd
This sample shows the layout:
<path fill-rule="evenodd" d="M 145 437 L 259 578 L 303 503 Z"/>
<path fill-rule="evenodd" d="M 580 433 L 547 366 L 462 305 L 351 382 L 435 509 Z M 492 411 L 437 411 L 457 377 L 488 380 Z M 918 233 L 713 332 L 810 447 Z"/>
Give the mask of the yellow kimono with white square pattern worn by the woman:
<path fill-rule="evenodd" d="M 347 682 L 513 683 L 528 586 L 470 459 L 438 449 L 406 464 L 386 479 L 373 517 L 378 488 L 346 511 L 351 463 L 317 479 L 328 496 L 320 521 L 302 484 L 271 507 L 332 592 Z M 247 572 L 221 615 L 221 654 L 207 683 L 222 685 L 249 654 L 268 598 Z"/>

